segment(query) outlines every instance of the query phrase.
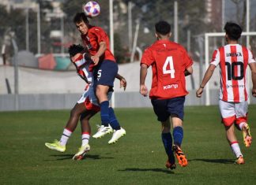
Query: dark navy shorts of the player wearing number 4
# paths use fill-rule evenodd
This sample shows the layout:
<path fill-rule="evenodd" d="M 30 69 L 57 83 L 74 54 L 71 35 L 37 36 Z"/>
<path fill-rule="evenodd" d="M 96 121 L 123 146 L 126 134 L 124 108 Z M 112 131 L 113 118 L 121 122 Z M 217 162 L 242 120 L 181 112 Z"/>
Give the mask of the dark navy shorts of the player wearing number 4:
<path fill-rule="evenodd" d="M 183 120 L 185 96 L 169 99 L 151 100 L 157 120 L 163 122 L 169 117 L 179 117 Z"/>

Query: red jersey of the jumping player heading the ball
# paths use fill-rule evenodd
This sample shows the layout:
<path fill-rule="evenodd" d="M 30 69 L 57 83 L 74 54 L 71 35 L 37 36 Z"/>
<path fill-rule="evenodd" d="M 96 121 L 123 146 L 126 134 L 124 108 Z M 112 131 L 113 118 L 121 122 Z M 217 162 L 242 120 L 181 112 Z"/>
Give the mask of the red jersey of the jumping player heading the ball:
<path fill-rule="evenodd" d="M 81 35 L 81 39 L 83 40 L 83 43 L 88 49 L 89 53 L 92 55 L 95 55 L 99 50 L 100 42 L 105 42 L 107 44 L 107 50 L 105 50 L 103 57 L 100 57 L 100 59 L 115 61 L 115 57 L 110 50 L 107 33 L 104 31 L 104 29 L 92 26 L 88 29 L 88 33 L 86 35 Z"/>

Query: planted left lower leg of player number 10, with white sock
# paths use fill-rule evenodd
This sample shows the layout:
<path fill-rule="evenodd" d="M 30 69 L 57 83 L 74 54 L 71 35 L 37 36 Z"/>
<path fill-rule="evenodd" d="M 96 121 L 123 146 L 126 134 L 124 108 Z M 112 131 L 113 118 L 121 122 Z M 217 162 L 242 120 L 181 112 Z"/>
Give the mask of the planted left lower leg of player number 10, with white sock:
<path fill-rule="evenodd" d="M 239 142 L 235 136 L 234 124 L 232 124 L 231 126 L 225 126 L 225 130 L 226 130 L 226 136 L 227 136 L 228 142 L 236 157 L 235 164 L 243 165 L 244 164 L 243 154 L 241 153 Z"/>

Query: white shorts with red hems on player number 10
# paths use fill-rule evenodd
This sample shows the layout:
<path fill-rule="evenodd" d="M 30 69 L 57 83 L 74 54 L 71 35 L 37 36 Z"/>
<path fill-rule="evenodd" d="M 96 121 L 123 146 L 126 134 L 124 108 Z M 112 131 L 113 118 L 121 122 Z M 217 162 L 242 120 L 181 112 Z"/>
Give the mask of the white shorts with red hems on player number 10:
<path fill-rule="evenodd" d="M 224 102 L 219 100 L 220 114 L 225 126 L 247 123 L 248 102 Z"/>

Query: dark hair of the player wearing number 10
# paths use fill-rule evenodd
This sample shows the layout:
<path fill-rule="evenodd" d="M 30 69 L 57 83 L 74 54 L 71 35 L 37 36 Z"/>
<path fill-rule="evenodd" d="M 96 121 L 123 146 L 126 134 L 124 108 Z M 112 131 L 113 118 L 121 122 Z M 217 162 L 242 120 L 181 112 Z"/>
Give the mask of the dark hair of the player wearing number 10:
<path fill-rule="evenodd" d="M 224 31 L 228 35 L 228 38 L 231 40 L 238 40 L 242 34 L 242 28 L 239 24 L 235 24 L 232 22 L 227 22 L 224 27 Z"/>

